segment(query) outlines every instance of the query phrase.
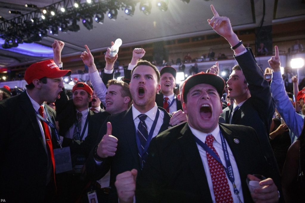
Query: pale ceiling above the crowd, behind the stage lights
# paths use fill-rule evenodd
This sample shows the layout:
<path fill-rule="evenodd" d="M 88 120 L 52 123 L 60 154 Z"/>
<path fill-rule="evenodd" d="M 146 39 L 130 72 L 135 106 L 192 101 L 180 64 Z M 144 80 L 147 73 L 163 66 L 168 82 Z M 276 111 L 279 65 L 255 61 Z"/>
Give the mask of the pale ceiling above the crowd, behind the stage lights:
<path fill-rule="evenodd" d="M 0 0 L 0 16 L 9 20 L 18 16 L 9 14 L 9 10 L 18 10 L 26 14 L 33 9 L 26 8 L 25 4 L 34 4 L 42 8 L 56 2 L 58 1 Z M 263 16 L 264 26 L 305 19 L 304 0 L 190 0 L 188 4 L 181 0 L 168 0 L 166 12 L 156 7 L 157 0 L 151 2 L 151 14 L 148 16 L 140 11 L 138 3 L 133 16 L 127 16 L 123 10 L 119 10 L 116 21 L 105 16 L 103 24 L 93 22 L 92 30 L 86 29 L 81 22 L 78 22 L 79 32 L 59 31 L 58 36 L 48 33 L 48 37 L 43 38 L 39 44 L 51 46 L 54 40 L 62 40 L 65 42 L 62 56 L 65 57 L 80 55 L 85 50 L 85 44 L 91 51 L 105 50 L 110 46 L 110 42 L 117 38 L 122 39 L 122 47 L 129 47 L 213 33 L 206 21 L 213 17 L 211 4 L 220 15 L 230 18 L 234 30 L 258 27 Z M 33 63 L 42 59 L 44 57 L 18 54 L 0 47 L 0 68 Z"/>

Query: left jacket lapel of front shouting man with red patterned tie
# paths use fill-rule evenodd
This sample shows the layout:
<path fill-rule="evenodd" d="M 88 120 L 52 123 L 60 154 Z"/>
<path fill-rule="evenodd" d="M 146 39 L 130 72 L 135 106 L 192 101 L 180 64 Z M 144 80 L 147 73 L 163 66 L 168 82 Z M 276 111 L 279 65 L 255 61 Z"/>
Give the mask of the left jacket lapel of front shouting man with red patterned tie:
<path fill-rule="evenodd" d="M 193 177 L 195 177 L 195 181 L 199 187 L 199 190 L 202 191 L 202 198 L 206 202 L 212 202 L 208 186 L 209 184 L 206 179 L 206 173 L 198 151 L 198 147 L 194 140 L 194 135 L 192 134 L 192 131 L 188 127 L 187 123 L 182 128 L 180 133 L 182 134 L 182 137 L 178 138 L 178 141 L 180 142 L 185 157 L 187 157 L 189 167 L 193 173 Z"/>

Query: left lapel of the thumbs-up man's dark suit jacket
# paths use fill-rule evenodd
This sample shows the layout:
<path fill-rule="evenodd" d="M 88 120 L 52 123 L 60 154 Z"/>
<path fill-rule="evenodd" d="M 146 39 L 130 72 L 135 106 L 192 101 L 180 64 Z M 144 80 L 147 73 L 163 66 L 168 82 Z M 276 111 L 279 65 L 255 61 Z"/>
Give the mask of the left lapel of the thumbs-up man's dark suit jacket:
<path fill-rule="evenodd" d="M 124 138 L 126 139 L 131 154 L 137 162 L 137 165 L 140 168 L 139 156 L 138 156 L 138 146 L 135 139 L 135 123 L 133 121 L 132 109 L 131 107 L 126 111 L 124 116 Z"/>

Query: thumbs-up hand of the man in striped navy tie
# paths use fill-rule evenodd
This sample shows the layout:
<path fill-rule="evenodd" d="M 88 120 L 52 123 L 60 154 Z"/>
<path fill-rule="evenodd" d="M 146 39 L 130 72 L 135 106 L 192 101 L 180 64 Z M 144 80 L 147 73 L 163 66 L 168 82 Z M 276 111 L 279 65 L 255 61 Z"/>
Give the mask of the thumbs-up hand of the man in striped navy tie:
<path fill-rule="evenodd" d="M 112 126 L 111 123 L 107 123 L 107 132 L 103 136 L 99 147 L 97 148 L 97 154 L 102 158 L 107 158 L 108 156 L 114 156 L 117 151 L 117 138 L 112 136 Z"/>

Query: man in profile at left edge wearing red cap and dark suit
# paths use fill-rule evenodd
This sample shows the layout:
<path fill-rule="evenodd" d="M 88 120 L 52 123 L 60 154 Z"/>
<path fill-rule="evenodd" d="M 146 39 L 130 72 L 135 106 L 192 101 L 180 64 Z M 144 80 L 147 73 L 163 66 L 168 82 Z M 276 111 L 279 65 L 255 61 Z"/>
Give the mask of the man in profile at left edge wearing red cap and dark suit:
<path fill-rule="evenodd" d="M 0 103 L 1 199 L 46 202 L 56 198 L 52 149 L 59 145 L 54 126 L 49 127 L 37 114 L 55 124 L 56 113 L 44 102 L 59 98 L 62 77 L 70 74 L 53 60 L 32 64 L 24 75 L 27 90 Z"/>

